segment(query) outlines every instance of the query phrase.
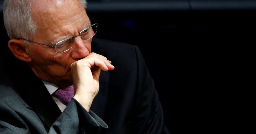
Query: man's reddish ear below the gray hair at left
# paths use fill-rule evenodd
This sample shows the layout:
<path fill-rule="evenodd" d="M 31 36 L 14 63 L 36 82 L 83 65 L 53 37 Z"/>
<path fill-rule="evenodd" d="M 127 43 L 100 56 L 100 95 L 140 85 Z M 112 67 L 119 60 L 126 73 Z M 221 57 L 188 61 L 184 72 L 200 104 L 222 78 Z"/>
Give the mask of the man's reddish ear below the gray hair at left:
<path fill-rule="evenodd" d="M 31 58 L 29 54 L 26 51 L 26 48 L 28 48 L 28 45 L 25 45 L 23 43 L 23 40 L 16 40 L 12 39 L 8 42 L 8 48 L 11 50 L 13 55 L 25 62 L 31 62 Z"/>

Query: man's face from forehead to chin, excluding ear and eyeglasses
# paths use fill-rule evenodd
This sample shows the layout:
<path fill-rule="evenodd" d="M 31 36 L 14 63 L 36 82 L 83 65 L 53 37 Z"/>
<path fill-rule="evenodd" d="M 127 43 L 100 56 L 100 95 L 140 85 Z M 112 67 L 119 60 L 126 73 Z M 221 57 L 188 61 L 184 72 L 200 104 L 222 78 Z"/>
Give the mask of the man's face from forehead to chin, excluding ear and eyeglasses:
<path fill-rule="evenodd" d="M 36 1 L 31 15 L 37 22 L 37 33 L 32 41 L 48 44 L 57 39 L 78 35 L 89 23 L 89 18 L 79 0 Z M 55 48 L 32 43 L 26 49 L 32 61 L 28 65 L 44 81 L 58 86 L 72 84 L 71 63 L 91 53 L 91 41 L 78 36 L 74 46 L 67 52 L 57 54 Z"/>

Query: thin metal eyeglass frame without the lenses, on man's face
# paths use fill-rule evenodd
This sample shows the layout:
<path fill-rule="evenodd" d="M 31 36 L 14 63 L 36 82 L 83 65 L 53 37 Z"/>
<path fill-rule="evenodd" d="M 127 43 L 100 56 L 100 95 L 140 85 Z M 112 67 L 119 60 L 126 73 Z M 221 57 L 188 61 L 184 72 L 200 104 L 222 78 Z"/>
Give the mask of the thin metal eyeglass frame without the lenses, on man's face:
<path fill-rule="evenodd" d="M 90 19 L 92 19 L 90 16 L 88 16 L 88 17 L 89 17 Z M 94 19 L 92 19 L 92 20 L 95 21 Z M 73 36 L 73 35 L 72 35 L 72 36 L 70 36 L 70 37 L 72 37 L 72 38 L 75 40 L 75 38 L 76 38 L 77 36 L 80 36 L 80 37 L 82 36 L 81 33 L 82 33 L 84 30 L 86 30 L 86 29 L 88 29 L 88 28 L 90 28 L 90 27 L 92 27 L 92 26 L 94 26 L 94 25 L 97 25 L 97 26 L 96 26 L 96 27 L 97 27 L 96 33 L 97 33 L 97 31 L 98 31 L 98 22 L 97 22 L 97 21 L 95 21 L 95 22 L 96 22 L 96 23 L 92 24 L 91 26 L 84 28 L 81 32 L 79 32 L 78 35 L 76 35 L 76 36 Z M 94 33 L 93 36 L 95 36 L 96 33 Z M 93 36 L 92 36 L 92 37 L 93 37 Z M 84 40 L 84 41 L 90 40 L 92 37 L 90 37 L 90 38 L 88 38 L 88 39 L 86 39 L 86 40 Z M 71 39 L 72 39 L 72 38 L 71 38 Z M 20 39 L 25 40 L 25 41 L 30 41 L 30 40 L 23 39 L 23 38 L 20 38 Z M 60 43 L 60 42 L 62 42 L 62 41 L 65 41 L 65 40 L 58 41 L 58 42 L 55 44 L 55 46 L 50 46 L 50 45 L 38 43 L 38 42 L 35 42 L 35 41 L 31 41 L 31 42 L 34 42 L 34 43 L 37 43 L 37 44 L 41 44 L 41 45 L 45 45 L 45 46 L 49 46 L 49 47 L 55 48 L 55 52 L 56 52 L 57 54 L 61 54 L 61 53 L 67 52 L 67 51 L 68 51 L 69 49 L 71 49 L 71 48 L 73 47 L 73 45 L 74 45 L 74 44 L 73 44 L 71 48 L 68 48 L 67 50 L 65 50 L 65 51 L 63 51 L 63 52 L 58 53 L 58 52 L 57 52 L 57 48 L 58 48 L 57 44 Z"/>

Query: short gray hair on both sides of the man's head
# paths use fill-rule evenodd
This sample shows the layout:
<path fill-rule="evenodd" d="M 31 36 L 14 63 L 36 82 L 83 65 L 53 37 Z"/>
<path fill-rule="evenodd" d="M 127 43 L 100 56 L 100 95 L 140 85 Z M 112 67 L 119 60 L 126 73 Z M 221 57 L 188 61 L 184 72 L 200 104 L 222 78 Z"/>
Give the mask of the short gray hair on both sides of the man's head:
<path fill-rule="evenodd" d="M 37 24 L 30 14 L 33 2 L 31 3 L 29 0 L 4 1 L 4 26 L 10 39 L 33 39 L 37 30 Z M 80 0 L 80 2 L 85 9 L 86 0 Z M 24 43 L 28 44 L 27 41 L 24 41 Z"/>

